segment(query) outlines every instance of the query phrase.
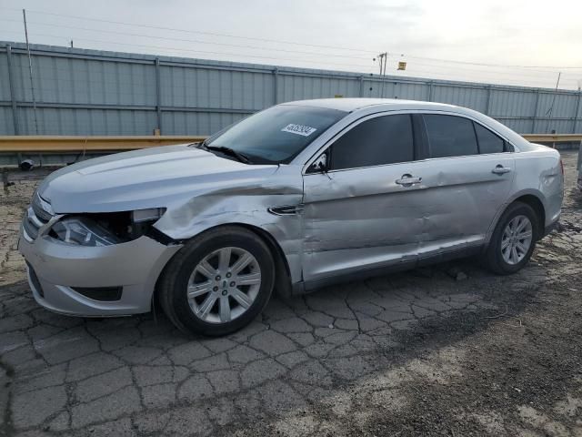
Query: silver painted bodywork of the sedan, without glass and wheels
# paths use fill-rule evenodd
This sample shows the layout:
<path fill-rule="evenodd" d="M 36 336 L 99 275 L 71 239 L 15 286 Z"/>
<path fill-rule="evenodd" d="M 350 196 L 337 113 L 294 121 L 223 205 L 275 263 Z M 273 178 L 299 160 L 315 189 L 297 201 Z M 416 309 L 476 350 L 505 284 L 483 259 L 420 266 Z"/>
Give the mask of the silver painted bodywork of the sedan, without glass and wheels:
<path fill-rule="evenodd" d="M 483 246 L 507 205 L 524 195 L 541 201 L 546 226 L 559 218 L 563 177 L 557 151 L 530 144 L 476 111 L 388 99 L 293 104 L 332 107 L 349 114 L 288 165 L 246 165 L 186 145 L 157 147 L 62 168 L 45 179 L 39 193 L 60 215 L 167 208 L 154 226 L 178 242 L 224 224 L 261 229 L 280 247 L 291 283 L 299 289 L 310 280 Z M 306 174 L 326 147 L 362 118 L 402 112 L 468 117 L 506 138 L 515 152 Z M 493 173 L 498 165 L 510 171 Z M 397 184 L 406 174 L 422 178 L 421 182 Z M 147 237 L 107 248 L 73 250 L 45 236 L 32 244 L 21 238 L 20 246 L 41 282 L 51 284 L 49 288 L 62 284 L 54 286 L 55 296 L 58 287 L 81 283 L 99 287 L 113 281 L 135 289 L 133 304 L 103 309 L 97 308 L 103 306 L 98 302 L 86 307 L 91 315 L 149 310 L 157 275 L 180 249 L 179 243 L 164 246 Z M 129 265 L 138 261 L 142 267 Z M 119 266 L 127 267 L 127 273 Z M 92 269 L 102 273 L 93 275 Z M 115 275 L 103 274 L 109 269 Z M 85 272 L 89 272 L 86 277 Z M 60 291 L 61 296 L 66 294 Z M 83 312 L 78 307 L 53 307 Z"/>

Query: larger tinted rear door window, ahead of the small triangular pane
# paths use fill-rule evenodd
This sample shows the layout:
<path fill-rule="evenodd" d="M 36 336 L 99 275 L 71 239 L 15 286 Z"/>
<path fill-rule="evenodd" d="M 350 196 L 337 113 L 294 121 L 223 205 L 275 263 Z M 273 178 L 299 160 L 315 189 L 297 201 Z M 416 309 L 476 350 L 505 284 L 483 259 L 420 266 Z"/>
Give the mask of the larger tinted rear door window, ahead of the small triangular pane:
<path fill-rule="evenodd" d="M 468 118 L 425 114 L 430 158 L 477 155 L 477 137 Z"/>

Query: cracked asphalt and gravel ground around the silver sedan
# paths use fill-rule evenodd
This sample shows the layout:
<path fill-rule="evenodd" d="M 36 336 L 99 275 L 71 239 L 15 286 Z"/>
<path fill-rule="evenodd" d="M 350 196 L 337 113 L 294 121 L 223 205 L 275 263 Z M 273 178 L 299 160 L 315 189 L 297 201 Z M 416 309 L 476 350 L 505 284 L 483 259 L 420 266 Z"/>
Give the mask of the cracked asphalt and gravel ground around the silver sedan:
<path fill-rule="evenodd" d="M 582 196 L 508 277 L 467 259 L 275 299 L 245 330 L 35 304 L 0 193 L 0 435 L 582 436 Z M 45 174 L 45 173 L 44 173 Z"/>

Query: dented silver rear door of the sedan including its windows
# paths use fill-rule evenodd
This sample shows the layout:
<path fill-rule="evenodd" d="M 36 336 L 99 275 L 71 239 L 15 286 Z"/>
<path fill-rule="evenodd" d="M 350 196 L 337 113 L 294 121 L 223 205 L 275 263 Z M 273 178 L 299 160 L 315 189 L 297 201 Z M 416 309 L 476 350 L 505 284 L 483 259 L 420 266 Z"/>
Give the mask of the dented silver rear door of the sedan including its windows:
<path fill-rule="evenodd" d="M 467 117 L 423 115 L 426 239 L 421 256 L 484 244 L 515 176 L 507 142 Z M 496 153 L 497 152 L 497 153 Z"/>

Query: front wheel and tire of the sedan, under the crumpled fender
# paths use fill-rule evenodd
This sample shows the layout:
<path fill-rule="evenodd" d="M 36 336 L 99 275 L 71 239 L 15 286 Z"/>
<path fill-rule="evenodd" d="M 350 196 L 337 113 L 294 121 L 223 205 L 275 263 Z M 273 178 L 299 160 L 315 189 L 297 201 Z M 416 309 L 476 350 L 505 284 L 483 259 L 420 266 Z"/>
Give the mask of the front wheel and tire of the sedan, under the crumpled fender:
<path fill-rule="evenodd" d="M 188 241 L 166 266 L 158 292 L 179 330 L 214 337 L 254 320 L 274 283 L 275 263 L 265 242 L 248 229 L 225 226 Z"/>

